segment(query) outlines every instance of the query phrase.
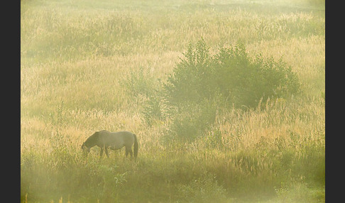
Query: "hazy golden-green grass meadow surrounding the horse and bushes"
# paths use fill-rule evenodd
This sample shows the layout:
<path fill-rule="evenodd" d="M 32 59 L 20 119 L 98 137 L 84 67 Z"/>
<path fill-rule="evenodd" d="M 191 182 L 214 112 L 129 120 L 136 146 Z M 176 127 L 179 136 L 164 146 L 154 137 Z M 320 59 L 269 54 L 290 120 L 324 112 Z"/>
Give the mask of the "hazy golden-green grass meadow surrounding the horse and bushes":
<path fill-rule="evenodd" d="M 165 110 L 200 40 L 283 60 L 299 93 Z M 21 202 L 325 202 L 324 96 L 322 0 L 21 1 Z M 86 160 L 104 129 L 135 133 L 137 160 Z"/>

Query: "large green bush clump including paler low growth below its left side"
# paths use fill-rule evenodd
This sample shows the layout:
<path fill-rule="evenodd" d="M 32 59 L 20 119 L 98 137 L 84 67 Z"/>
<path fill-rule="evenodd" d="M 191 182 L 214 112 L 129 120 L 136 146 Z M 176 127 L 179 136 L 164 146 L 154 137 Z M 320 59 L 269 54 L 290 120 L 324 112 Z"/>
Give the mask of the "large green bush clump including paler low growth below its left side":
<path fill-rule="evenodd" d="M 170 134 L 180 138 L 206 135 L 217 111 L 256 108 L 268 98 L 300 91 L 297 75 L 283 60 L 261 55 L 253 59 L 242 43 L 210 55 L 202 39 L 195 48 L 189 45 L 184 56 L 163 84 L 163 100 L 172 118 Z M 151 110 L 160 113 L 154 104 Z"/>

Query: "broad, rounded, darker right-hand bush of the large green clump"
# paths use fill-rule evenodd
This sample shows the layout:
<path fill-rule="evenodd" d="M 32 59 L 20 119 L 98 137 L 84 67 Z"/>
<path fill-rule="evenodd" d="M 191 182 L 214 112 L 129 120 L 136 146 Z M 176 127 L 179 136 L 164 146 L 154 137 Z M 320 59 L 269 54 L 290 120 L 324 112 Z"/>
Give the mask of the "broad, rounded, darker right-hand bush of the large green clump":
<path fill-rule="evenodd" d="M 258 55 L 251 60 L 244 45 L 222 48 L 215 57 L 217 87 L 229 103 L 236 107 L 255 107 L 269 97 L 288 97 L 299 92 L 297 75 L 283 60 L 276 62 L 273 57 L 263 59 Z"/>

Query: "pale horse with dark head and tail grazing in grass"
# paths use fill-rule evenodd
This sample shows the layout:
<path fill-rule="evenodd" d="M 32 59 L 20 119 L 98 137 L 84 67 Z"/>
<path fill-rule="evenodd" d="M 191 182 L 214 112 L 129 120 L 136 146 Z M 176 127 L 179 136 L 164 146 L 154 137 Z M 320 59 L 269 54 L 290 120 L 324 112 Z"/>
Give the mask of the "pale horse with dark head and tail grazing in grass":
<path fill-rule="evenodd" d="M 135 134 L 128 131 L 119 131 L 114 133 L 109 131 L 97 131 L 82 143 L 82 150 L 89 153 L 90 148 L 99 146 L 99 148 L 101 148 L 101 152 L 99 154 L 100 160 L 103 155 L 103 150 L 105 150 L 106 156 L 109 158 L 108 148 L 111 150 L 118 150 L 126 147 L 126 157 L 128 153 L 133 157 L 133 144 L 134 158 L 136 158 L 138 156 L 138 140 Z"/>

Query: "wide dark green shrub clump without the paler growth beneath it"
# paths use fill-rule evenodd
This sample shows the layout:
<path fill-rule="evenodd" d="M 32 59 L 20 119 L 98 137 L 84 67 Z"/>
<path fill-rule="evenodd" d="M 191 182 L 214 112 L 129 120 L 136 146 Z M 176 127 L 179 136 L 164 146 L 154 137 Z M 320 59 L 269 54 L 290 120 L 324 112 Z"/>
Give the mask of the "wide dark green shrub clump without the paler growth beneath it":
<path fill-rule="evenodd" d="M 242 43 L 212 56 L 204 40 L 199 40 L 184 55 L 165 84 L 172 106 L 220 94 L 229 106 L 255 107 L 261 98 L 265 102 L 268 97 L 287 97 L 300 89 L 297 75 L 283 60 L 265 60 L 261 55 L 253 60 Z"/>

